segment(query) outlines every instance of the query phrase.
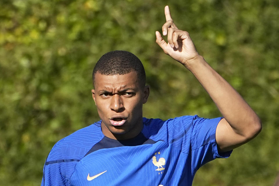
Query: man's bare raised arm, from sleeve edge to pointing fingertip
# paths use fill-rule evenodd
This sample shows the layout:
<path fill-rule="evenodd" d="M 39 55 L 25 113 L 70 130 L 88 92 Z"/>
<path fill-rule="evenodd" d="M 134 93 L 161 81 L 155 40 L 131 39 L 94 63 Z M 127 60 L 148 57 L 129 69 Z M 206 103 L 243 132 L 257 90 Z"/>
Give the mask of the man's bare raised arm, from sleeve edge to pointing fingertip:
<path fill-rule="evenodd" d="M 234 90 L 234 88 L 208 65 L 198 54 L 194 43 L 186 31 L 174 24 L 169 7 L 165 7 L 166 23 L 162 26 L 165 42 L 156 31 L 156 42 L 168 54 L 191 71 L 223 115 L 216 129 L 219 151 L 232 150 L 253 139 L 262 125 L 257 114 Z"/>

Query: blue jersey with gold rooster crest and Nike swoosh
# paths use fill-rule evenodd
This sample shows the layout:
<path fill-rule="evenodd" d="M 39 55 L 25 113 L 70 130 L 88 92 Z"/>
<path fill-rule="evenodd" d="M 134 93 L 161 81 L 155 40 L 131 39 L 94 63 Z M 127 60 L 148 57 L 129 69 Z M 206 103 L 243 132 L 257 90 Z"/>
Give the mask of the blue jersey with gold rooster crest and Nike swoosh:
<path fill-rule="evenodd" d="M 218 153 L 215 131 L 221 118 L 183 116 L 167 121 L 143 118 L 143 129 L 130 140 L 113 140 L 101 121 L 57 142 L 44 165 L 48 185 L 192 185 L 196 171 Z"/>

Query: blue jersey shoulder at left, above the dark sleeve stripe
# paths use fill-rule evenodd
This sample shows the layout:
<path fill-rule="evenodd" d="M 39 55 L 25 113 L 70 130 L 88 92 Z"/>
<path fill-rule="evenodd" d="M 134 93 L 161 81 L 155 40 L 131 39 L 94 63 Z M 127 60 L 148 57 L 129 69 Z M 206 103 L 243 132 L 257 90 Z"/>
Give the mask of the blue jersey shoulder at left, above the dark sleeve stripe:
<path fill-rule="evenodd" d="M 101 121 L 77 130 L 59 140 L 51 149 L 47 161 L 81 159 L 103 136 Z"/>

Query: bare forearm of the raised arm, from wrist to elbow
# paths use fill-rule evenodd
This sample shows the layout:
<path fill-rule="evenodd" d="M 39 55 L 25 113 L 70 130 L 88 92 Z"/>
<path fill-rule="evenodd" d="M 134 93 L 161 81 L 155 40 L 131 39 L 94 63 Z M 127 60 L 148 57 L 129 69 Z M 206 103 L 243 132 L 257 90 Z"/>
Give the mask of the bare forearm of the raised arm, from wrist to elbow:
<path fill-rule="evenodd" d="M 261 124 L 256 113 L 238 92 L 208 65 L 202 56 L 197 56 L 185 67 L 194 74 L 208 92 L 235 133 L 245 137 L 257 133 Z"/>

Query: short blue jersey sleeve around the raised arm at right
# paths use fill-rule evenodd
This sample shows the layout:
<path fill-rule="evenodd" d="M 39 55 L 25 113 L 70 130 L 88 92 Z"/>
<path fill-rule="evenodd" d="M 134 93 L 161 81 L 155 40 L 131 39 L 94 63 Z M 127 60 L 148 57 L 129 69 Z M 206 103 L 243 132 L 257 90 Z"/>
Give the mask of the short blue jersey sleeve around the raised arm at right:
<path fill-rule="evenodd" d="M 216 128 L 222 117 L 205 119 L 195 116 L 191 128 L 192 167 L 197 170 L 216 158 L 228 158 L 232 151 L 219 153 L 215 138 Z"/>

